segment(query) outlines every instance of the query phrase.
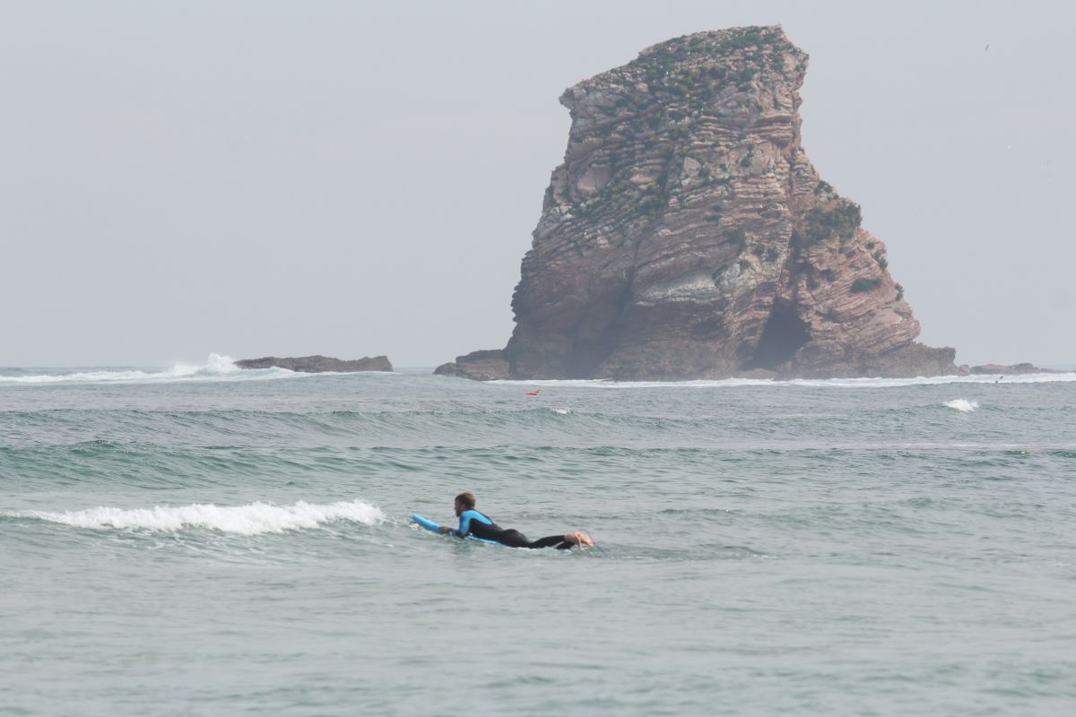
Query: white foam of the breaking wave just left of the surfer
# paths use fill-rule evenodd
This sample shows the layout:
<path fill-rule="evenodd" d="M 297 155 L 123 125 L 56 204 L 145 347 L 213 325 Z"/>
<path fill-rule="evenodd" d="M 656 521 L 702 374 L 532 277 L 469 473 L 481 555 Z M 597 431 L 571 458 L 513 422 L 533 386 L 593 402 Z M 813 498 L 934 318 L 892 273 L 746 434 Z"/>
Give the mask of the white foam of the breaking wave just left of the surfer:
<path fill-rule="evenodd" d="M 325 505 L 299 501 L 294 505 L 272 505 L 257 502 L 238 506 L 214 505 L 212 503 L 176 507 L 156 505 L 152 508 L 100 506 L 86 511 L 22 511 L 4 515 L 17 518 L 39 518 L 75 528 L 142 529 L 160 532 L 174 532 L 187 528 L 208 528 L 239 535 L 312 529 L 334 520 L 349 520 L 367 526 L 385 520 L 385 514 L 381 512 L 381 508 L 362 501 Z"/>

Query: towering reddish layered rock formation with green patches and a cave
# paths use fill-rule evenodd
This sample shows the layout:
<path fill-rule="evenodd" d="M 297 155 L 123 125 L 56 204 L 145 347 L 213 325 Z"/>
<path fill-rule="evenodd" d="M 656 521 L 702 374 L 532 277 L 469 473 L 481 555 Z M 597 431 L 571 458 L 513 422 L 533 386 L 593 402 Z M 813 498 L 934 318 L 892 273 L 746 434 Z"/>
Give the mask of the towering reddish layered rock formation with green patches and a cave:
<path fill-rule="evenodd" d="M 955 373 L 860 207 L 799 144 L 807 55 L 780 27 L 677 38 L 568 89 L 564 163 L 476 378 Z"/>

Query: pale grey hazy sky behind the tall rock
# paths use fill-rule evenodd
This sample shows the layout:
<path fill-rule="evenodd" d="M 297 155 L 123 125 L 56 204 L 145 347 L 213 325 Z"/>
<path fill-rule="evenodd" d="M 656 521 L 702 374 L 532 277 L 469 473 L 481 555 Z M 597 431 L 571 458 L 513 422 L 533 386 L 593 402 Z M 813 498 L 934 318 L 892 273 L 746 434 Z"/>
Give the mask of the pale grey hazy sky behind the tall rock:
<path fill-rule="evenodd" d="M 568 86 L 810 55 L 804 147 L 957 361 L 1076 361 L 1061 2 L 0 0 L 0 365 L 504 346 Z M 989 45 L 989 47 L 988 47 Z"/>

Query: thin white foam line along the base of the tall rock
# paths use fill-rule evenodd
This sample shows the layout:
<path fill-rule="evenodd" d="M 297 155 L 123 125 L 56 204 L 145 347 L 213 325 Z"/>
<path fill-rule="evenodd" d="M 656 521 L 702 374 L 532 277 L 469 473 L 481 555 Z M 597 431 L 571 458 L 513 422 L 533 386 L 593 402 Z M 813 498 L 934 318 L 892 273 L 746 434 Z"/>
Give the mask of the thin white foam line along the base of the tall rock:
<path fill-rule="evenodd" d="M 1072 373 L 1030 373 L 1019 376 L 1005 376 L 1005 384 L 1050 384 L 1076 382 L 1076 372 Z M 902 386 L 943 386 L 947 384 L 995 384 L 996 375 L 971 376 L 917 376 L 915 378 L 793 378 L 791 381 L 774 381 L 773 378 L 724 378 L 721 381 L 612 381 L 609 378 L 594 379 L 533 379 L 533 381 L 491 381 L 491 384 L 507 386 L 533 386 L 539 388 L 740 388 L 744 386 L 803 386 L 811 388 L 897 388 Z"/>

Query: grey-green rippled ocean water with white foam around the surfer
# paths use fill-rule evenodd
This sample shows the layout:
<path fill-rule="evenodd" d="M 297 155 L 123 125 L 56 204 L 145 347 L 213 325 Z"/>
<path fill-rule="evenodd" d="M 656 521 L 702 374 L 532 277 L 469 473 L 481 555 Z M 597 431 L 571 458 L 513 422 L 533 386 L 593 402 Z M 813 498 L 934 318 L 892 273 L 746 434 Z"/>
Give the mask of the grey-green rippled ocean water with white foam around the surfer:
<path fill-rule="evenodd" d="M 996 379 L 0 369 L 0 715 L 1076 714 L 1076 373 Z"/>

